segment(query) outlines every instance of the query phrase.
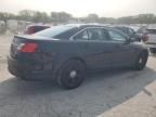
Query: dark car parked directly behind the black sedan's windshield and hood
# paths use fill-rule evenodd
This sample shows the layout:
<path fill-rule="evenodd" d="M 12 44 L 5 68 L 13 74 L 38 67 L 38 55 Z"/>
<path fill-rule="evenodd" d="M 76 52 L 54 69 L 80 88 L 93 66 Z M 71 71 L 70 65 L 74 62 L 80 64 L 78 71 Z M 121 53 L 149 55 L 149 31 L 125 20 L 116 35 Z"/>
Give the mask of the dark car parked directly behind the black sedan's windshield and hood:
<path fill-rule="evenodd" d="M 136 27 L 130 27 L 130 26 L 115 26 L 115 28 L 119 29 L 130 38 L 133 38 L 138 41 L 142 40 L 142 36 L 138 32 Z"/>

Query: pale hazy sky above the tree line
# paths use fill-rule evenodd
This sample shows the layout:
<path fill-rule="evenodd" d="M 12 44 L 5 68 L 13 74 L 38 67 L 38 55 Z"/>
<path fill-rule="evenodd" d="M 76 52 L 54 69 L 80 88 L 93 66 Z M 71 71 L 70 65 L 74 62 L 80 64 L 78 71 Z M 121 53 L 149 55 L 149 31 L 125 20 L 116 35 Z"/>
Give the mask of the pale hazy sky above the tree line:
<path fill-rule="evenodd" d="M 156 14 L 156 0 L 0 0 L 0 12 L 17 14 L 21 10 L 67 12 L 73 16 L 95 13 L 105 17 L 120 17 L 142 13 Z"/>

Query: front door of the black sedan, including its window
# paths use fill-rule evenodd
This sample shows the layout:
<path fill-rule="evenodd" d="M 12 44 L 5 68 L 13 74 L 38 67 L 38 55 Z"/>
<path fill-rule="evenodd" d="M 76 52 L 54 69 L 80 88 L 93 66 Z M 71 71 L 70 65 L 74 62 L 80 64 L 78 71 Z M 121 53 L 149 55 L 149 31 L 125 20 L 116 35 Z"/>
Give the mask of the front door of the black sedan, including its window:
<path fill-rule="evenodd" d="M 114 44 L 112 65 L 113 67 L 129 66 L 133 62 L 134 50 L 127 42 L 127 37 L 120 31 L 108 29 L 112 44 Z"/>

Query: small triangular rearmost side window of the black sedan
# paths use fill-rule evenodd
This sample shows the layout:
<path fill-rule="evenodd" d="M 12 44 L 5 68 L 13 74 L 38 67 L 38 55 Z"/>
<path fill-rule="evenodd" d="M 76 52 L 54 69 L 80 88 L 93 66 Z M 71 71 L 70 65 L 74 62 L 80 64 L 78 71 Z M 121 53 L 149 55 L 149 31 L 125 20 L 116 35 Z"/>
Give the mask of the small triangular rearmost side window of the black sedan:
<path fill-rule="evenodd" d="M 75 40 L 88 40 L 88 31 L 83 30 L 74 37 Z"/>

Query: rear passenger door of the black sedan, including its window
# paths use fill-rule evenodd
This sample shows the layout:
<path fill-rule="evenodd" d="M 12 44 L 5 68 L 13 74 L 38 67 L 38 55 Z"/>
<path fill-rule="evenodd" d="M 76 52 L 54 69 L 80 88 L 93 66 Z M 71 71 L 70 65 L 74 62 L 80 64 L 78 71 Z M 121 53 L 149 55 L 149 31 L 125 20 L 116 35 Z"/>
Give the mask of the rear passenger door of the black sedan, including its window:
<path fill-rule="evenodd" d="M 78 42 L 83 42 L 80 50 L 84 52 L 84 60 L 91 69 L 112 67 L 113 44 L 109 42 L 107 31 L 101 27 L 87 28 L 75 37 Z"/>

